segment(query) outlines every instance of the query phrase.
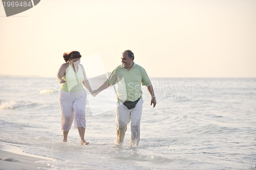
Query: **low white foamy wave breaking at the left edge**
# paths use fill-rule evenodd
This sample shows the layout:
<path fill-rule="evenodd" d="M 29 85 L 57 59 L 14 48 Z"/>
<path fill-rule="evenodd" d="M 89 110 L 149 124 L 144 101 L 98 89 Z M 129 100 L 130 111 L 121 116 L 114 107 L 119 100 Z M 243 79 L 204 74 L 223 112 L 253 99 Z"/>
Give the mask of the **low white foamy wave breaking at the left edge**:
<path fill-rule="evenodd" d="M 6 101 L 6 102 L 1 102 L 0 110 L 17 109 L 17 108 L 22 108 L 26 106 L 31 107 L 35 105 L 37 104 L 29 101 Z"/>

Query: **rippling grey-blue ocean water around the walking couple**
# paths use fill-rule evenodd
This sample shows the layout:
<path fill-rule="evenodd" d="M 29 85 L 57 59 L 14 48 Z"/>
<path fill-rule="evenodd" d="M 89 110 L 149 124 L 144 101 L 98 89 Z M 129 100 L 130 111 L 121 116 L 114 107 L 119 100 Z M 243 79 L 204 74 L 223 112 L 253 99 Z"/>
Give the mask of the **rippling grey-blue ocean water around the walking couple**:
<path fill-rule="evenodd" d="M 152 78 L 157 106 L 143 87 L 138 148 L 130 124 L 114 143 L 114 87 L 88 94 L 81 145 L 74 127 L 62 142 L 55 78 L 0 80 L 0 142 L 53 158 L 40 161 L 52 169 L 256 169 L 255 78 Z"/>

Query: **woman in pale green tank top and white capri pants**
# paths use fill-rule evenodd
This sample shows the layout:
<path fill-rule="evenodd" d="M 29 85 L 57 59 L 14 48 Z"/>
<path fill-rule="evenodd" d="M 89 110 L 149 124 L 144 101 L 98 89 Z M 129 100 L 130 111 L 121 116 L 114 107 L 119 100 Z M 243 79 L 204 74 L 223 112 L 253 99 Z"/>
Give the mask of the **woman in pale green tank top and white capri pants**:
<path fill-rule="evenodd" d="M 64 53 L 66 63 L 62 64 L 57 73 L 57 81 L 61 83 L 59 90 L 59 105 L 61 110 L 61 130 L 63 141 L 67 142 L 68 133 L 73 120 L 74 126 L 78 129 L 80 143 L 88 145 L 84 140 L 86 132 L 86 91 L 83 85 L 92 91 L 86 72 L 80 63 L 81 55 L 77 51 Z"/>

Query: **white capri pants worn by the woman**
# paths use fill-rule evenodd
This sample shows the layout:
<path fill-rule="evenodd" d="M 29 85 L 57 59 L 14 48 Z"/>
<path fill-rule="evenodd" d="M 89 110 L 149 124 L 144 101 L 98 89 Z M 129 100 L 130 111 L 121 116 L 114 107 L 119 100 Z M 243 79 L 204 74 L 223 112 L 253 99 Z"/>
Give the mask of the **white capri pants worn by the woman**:
<path fill-rule="evenodd" d="M 86 128 L 86 91 L 59 91 L 61 110 L 61 130 L 69 131 L 73 120 L 74 127 Z"/>

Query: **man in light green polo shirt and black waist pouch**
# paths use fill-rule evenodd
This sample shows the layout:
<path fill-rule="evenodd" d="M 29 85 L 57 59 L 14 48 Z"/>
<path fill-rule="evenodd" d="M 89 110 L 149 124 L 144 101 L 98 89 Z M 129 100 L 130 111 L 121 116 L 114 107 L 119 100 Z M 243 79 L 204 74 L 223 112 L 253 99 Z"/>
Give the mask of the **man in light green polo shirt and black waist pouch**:
<path fill-rule="evenodd" d="M 150 78 L 148 78 L 143 67 L 134 62 L 134 54 L 131 50 L 122 53 L 122 64 L 117 66 L 108 80 L 98 89 L 91 91 L 91 94 L 98 94 L 100 91 L 117 83 L 117 112 L 116 130 L 117 144 L 122 144 L 127 124 L 131 122 L 131 147 L 138 147 L 140 140 L 140 119 L 142 114 L 142 89 L 141 85 L 147 87 L 151 94 L 151 105 L 156 106 L 156 97 Z"/>

